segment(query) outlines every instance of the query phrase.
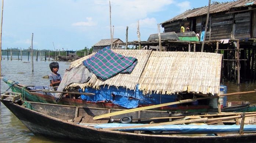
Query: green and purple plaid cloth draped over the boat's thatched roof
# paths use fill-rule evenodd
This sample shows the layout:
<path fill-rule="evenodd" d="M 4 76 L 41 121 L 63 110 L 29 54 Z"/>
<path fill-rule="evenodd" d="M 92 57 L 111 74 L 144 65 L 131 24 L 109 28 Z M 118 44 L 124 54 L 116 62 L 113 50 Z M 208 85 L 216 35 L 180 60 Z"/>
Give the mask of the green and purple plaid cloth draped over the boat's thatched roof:
<path fill-rule="evenodd" d="M 130 74 L 137 62 L 136 58 L 117 54 L 110 50 L 108 46 L 98 51 L 89 59 L 84 60 L 83 64 L 98 78 L 105 81 L 118 73 Z"/>

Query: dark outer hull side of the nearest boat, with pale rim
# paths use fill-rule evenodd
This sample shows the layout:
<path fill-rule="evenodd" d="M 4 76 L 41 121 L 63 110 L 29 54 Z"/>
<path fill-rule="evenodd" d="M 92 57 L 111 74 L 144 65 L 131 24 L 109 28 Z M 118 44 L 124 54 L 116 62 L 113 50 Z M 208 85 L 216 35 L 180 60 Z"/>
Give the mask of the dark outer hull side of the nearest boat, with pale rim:
<path fill-rule="evenodd" d="M 229 136 L 170 136 L 147 135 L 119 131 L 97 130 L 92 127 L 69 123 L 43 113 L 2 100 L 15 116 L 35 135 L 49 138 L 92 142 L 92 143 L 251 143 L 256 140 L 256 134 L 229 135 Z M 43 106 L 42 106 L 43 107 Z"/>

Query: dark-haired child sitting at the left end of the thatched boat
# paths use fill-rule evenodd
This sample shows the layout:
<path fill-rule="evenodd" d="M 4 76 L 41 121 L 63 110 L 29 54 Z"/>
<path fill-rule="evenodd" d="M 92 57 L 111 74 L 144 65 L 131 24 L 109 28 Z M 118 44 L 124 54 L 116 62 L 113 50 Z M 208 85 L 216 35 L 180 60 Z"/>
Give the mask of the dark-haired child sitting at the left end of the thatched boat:
<path fill-rule="evenodd" d="M 49 66 L 52 71 L 52 73 L 49 74 L 50 86 L 59 86 L 61 83 L 61 75 L 57 73 L 59 70 L 59 63 L 51 62 Z"/>

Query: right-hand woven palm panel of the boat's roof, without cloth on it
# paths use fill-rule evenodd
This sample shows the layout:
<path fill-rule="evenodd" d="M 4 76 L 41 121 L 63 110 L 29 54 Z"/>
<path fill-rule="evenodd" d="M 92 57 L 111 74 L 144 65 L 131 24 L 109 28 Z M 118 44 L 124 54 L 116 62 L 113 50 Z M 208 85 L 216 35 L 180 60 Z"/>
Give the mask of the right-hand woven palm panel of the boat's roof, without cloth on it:
<path fill-rule="evenodd" d="M 139 90 L 144 94 L 219 93 L 222 54 L 152 51 Z"/>

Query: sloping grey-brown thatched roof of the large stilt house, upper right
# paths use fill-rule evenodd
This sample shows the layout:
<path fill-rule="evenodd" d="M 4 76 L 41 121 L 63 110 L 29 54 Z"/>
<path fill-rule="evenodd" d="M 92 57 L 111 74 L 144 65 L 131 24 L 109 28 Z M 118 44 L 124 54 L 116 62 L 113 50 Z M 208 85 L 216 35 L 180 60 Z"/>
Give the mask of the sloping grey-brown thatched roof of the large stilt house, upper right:
<path fill-rule="evenodd" d="M 210 5 L 210 14 L 219 13 L 219 12 L 227 12 L 234 11 L 236 8 L 249 7 L 250 5 L 256 5 L 255 0 L 237 0 L 230 1 L 226 3 L 216 3 Z M 187 10 L 180 15 L 175 16 L 172 19 L 169 19 L 161 24 L 172 23 L 179 20 L 186 20 L 187 18 L 193 18 L 201 15 L 206 15 L 208 11 L 208 6 L 194 8 L 192 10 Z"/>

